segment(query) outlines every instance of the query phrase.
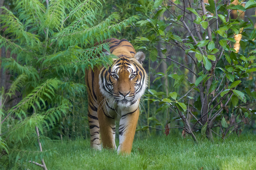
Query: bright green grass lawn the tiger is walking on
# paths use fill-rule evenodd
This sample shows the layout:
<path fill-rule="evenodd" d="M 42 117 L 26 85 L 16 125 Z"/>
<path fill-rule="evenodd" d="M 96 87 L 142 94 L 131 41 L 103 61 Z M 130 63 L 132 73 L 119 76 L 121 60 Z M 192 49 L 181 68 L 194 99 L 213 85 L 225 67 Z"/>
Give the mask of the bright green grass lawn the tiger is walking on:
<path fill-rule="evenodd" d="M 135 140 L 130 155 L 90 149 L 89 140 L 53 142 L 43 149 L 48 170 L 255 170 L 256 135 L 231 136 L 225 142 L 193 141 L 174 136 Z M 40 169 L 28 164 L 28 168 Z"/>

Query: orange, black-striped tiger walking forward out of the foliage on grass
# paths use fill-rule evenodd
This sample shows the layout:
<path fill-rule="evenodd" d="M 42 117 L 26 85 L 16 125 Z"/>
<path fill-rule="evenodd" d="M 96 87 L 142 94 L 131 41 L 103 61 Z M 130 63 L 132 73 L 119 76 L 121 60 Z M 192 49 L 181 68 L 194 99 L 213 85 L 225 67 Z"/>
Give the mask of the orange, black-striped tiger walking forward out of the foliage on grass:
<path fill-rule="evenodd" d="M 148 85 L 148 76 L 142 62 L 145 54 L 136 53 L 126 39 L 106 39 L 95 43 L 109 43 L 113 64 L 107 68 L 94 67 L 85 70 L 88 93 L 88 120 L 91 148 L 117 149 L 130 154 L 139 117 L 140 98 Z M 115 144 L 115 121 L 119 121 L 119 145 Z M 102 142 L 102 145 L 101 145 Z"/>

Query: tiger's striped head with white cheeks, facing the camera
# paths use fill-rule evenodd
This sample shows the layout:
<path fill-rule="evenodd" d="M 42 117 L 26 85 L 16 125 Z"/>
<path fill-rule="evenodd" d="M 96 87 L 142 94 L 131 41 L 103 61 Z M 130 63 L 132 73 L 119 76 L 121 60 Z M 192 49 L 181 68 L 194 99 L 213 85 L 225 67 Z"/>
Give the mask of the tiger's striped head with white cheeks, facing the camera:
<path fill-rule="evenodd" d="M 139 51 L 133 58 L 126 55 L 117 57 L 112 66 L 102 68 L 100 91 L 118 107 L 129 107 L 141 98 L 148 84 L 148 76 L 142 67 L 145 54 Z"/>

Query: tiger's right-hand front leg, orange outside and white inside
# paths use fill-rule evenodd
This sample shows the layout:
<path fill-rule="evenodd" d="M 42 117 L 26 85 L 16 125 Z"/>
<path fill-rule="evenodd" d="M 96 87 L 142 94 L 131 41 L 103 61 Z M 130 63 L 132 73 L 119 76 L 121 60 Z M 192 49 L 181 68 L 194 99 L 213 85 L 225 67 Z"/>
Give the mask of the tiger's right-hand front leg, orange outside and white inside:
<path fill-rule="evenodd" d="M 139 117 L 139 109 L 122 114 L 119 125 L 118 153 L 130 154 Z"/>

